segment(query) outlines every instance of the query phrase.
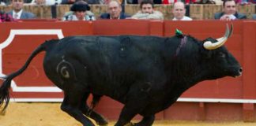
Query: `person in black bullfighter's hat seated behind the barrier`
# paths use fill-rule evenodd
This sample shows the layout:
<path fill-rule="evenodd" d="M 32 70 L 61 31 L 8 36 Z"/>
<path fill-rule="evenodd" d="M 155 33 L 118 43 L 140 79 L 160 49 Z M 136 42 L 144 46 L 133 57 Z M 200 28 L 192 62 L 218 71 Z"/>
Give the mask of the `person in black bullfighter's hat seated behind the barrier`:
<path fill-rule="evenodd" d="M 90 11 L 87 2 L 77 1 L 70 7 L 63 20 L 95 20 L 94 14 Z"/>

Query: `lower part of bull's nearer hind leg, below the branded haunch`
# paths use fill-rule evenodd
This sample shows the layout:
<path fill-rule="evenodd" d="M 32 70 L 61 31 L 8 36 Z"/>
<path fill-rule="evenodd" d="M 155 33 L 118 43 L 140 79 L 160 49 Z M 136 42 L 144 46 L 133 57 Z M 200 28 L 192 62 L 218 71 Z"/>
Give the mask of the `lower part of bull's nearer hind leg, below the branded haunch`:
<path fill-rule="evenodd" d="M 75 87 L 75 85 L 74 85 Z M 61 109 L 66 113 L 69 113 L 71 117 L 74 117 L 76 120 L 80 121 L 84 126 L 95 126 L 91 120 L 83 115 L 81 112 L 80 106 L 82 97 L 84 93 L 76 88 L 77 90 L 64 91 L 64 100 L 62 102 Z"/>

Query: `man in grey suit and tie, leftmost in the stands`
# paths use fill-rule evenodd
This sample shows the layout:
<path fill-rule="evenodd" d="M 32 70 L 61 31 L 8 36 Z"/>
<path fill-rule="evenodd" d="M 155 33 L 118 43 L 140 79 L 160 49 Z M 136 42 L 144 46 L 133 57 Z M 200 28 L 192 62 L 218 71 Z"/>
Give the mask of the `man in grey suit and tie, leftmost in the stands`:
<path fill-rule="evenodd" d="M 13 0 L 12 6 L 13 10 L 9 11 L 10 14 L 14 19 L 32 19 L 35 18 L 34 13 L 25 12 L 23 10 L 24 0 Z"/>

